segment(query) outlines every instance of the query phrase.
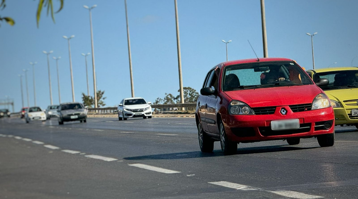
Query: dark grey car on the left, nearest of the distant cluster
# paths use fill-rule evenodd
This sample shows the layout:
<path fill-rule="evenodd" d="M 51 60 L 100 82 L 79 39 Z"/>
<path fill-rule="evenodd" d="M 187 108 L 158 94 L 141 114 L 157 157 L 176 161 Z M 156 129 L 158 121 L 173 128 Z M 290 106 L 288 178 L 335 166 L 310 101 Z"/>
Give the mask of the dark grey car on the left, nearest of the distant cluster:
<path fill-rule="evenodd" d="M 69 121 L 87 122 L 87 107 L 78 102 L 62 103 L 58 107 L 58 124 Z"/>

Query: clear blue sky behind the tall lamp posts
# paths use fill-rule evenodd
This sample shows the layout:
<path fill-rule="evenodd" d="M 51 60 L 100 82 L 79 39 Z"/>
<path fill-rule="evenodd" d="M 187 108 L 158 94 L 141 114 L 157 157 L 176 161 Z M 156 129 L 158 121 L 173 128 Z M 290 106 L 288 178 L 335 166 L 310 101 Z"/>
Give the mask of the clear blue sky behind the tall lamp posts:
<path fill-rule="evenodd" d="M 105 90 L 107 106 L 131 97 L 124 1 L 65 0 L 63 10 L 55 14 L 56 23 L 42 13 L 37 28 L 35 13 L 38 1 L 7 0 L 1 16 L 11 16 L 16 24 L 0 27 L 0 99 L 5 95 L 21 108 L 21 69 L 29 68 L 30 106 L 34 104 L 32 68 L 35 65 L 37 104 L 50 104 L 46 55 L 61 56 L 59 76 L 62 102 L 72 101 L 67 41 L 71 40 L 74 91 L 76 101 L 87 93 L 84 57 L 91 52 L 88 10 L 93 9 L 93 37 L 98 89 Z M 306 69 L 312 68 L 311 39 L 314 36 L 315 67 L 350 66 L 358 55 L 358 1 L 266 0 L 266 27 L 269 57 L 286 57 Z M 59 6 L 54 1 L 54 9 Z M 136 97 L 155 101 L 164 93 L 178 94 L 178 59 L 176 51 L 175 10 L 173 0 L 128 0 L 134 89 Z M 226 60 L 263 57 L 260 1 L 178 0 L 180 45 L 184 87 L 197 91 L 208 70 Z M 92 61 L 88 56 L 89 87 L 93 95 Z M 358 65 L 358 58 L 353 65 Z M 55 60 L 50 60 L 53 103 L 58 103 Z M 26 92 L 24 82 L 24 104 Z"/>

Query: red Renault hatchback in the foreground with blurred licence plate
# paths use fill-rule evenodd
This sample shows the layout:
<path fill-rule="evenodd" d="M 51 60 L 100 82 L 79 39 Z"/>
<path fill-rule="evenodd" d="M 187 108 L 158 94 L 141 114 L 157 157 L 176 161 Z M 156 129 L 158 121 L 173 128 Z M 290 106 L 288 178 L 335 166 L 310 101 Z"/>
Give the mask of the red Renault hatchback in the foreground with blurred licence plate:
<path fill-rule="evenodd" d="M 244 59 L 223 62 L 207 74 L 195 112 L 200 149 L 212 152 L 220 141 L 224 154 L 237 144 L 316 137 L 334 144 L 334 112 L 329 98 L 294 60 Z"/>

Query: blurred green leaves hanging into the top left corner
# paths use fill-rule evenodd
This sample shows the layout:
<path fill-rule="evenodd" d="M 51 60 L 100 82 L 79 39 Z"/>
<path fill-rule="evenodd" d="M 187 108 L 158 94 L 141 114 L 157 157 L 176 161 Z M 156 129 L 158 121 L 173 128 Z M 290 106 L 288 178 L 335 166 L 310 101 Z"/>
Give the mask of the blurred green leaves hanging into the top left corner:
<path fill-rule="evenodd" d="M 36 11 L 37 28 L 39 27 L 39 21 L 40 21 L 41 11 L 43 7 L 47 7 L 47 16 L 49 12 L 51 12 L 51 18 L 53 20 L 53 23 L 55 23 L 54 14 L 62 10 L 64 0 L 58 0 L 58 1 L 60 1 L 60 8 L 56 12 L 53 12 L 53 0 L 39 0 L 39 4 L 37 6 L 37 11 Z M 3 10 L 5 7 L 6 7 L 5 0 L 1 0 L 0 9 Z M 0 16 L 0 21 L 2 20 L 5 20 L 10 25 L 15 24 L 15 21 L 10 17 L 1 18 Z"/>

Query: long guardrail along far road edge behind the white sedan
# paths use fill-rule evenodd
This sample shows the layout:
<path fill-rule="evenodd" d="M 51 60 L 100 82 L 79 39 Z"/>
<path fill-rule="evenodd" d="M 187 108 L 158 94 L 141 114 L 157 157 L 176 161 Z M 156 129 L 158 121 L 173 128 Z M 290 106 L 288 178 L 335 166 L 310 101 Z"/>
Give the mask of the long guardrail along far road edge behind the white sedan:
<path fill-rule="evenodd" d="M 155 112 L 179 111 L 184 108 L 185 111 L 195 110 L 197 103 L 183 103 L 183 104 L 163 104 L 163 105 L 150 105 Z M 88 108 L 89 113 L 116 113 L 117 107 L 104 107 L 104 108 Z"/>

